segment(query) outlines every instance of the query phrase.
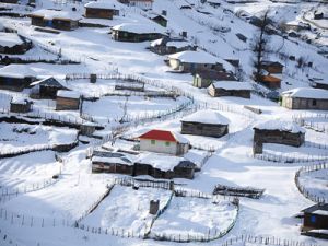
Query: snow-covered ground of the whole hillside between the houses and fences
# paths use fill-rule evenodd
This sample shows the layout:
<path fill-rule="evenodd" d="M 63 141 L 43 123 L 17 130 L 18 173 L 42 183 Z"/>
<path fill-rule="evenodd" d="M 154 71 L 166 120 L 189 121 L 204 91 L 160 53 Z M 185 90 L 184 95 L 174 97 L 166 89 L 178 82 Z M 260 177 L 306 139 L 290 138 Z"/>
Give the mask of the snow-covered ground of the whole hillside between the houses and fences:
<path fill-rule="evenodd" d="M 114 1 L 114 0 L 110 0 Z M 57 3 L 54 3 L 57 2 Z M 83 4 L 65 3 L 59 1 L 37 1 L 36 9 L 56 8 L 71 10 L 75 7 L 77 13 L 83 14 Z M 65 2 L 65 1 L 62 1 Z M 84 1 L 86 2 L 86 1 Z M 114 20 L 106 20 L 104 23 L 114 26 L 125 22 L 150 21 L 147 14 L 138 8 L 129 8 L 117 3 L 121 12 L 120 16 Z M 4 3 L 1 3 L 4 4 Z M 245 10 L 251 15 L 260 15 L 266 8 L 271 9 L 271 17 L 279 23 L 283 20 L 302 20 L 304 13 L 316 8 L 317 3 L 297 2 L 288 4 L 283 1 L 272 3 L 269 0 L 259 0 L 256 3 L 230 4 L 222 1 L 222 7 L 214 9 L 209 4 L 201 4 L 198 0 L 155 0 L 153 9 L 156 12 L 167 10 L 167 28 L 175 35 L 183 31 L 187 32 L 189 42 L 199 45 L 204 50 L 214 54 L 221 59 L 239 59 L 245 81 L 250 81 L 251 66 L 250 58 L 254 54 L 249 50 L 250 40 L 257 28 L 237 17 L 234 13 Z M 180 9 L 180 5 L 190 5 L 191 9 Z M 16 12 L 30 12 L 23 5 L 9 4 Z M 307 16 L 307 15 L 306 15 Z M 85 21 L 85 19 L 84 19 Z M 304 21 L 304 20 L 303 20 Z M 103 21 L 95 22 L 103 23 Z M 67 74 L 109 74 L 120 72 L 132 74 L 144 79 L 157 80 L 163 86 L 156 87 L 145 85 L 150 91 L 166 91 L 165 86 L 175 86 L 194 97 L 194 106 L 199 108 L 216 109 L 229 120 L 230 133 L 220 139 L 185 136 L 190 140 L 191 145 L 213 147 L 215 152 L 208 162 L 197 172 L 194 180 L 175 179 L 174 181 L 184 188 L 211 194 L 218 184 L 230 186 L 251 186 L 266 189 L 259 200 L 241 199 L 239 213 L 234 227 L 221 239 L 203 243 L 206 245 L 220 245 L 234 236 L 256 235 L 270 236 L 282 239 L 293 239 L 300 243 L 325 245 L 325 241 L 315 239 L 300 235 L 302 220 L 294 215 L 301 210 L 313 204 L 306 199 L 295 186 L 294 177 L 297 169 L 312 163 L 272 163 L 254 159 L 253 156 L 253 127 L 256 124 L 267 120 L 292 121 L 297 116 L 308 114 L 307 110 L 289 110 L 280 107 L 278 103 L 251 94 L 250 99 L 237 97 L 210 97 L 204 89 L 192 86 L 192 75 L 188 73 L 173 73 L 165 65 L 165 56 L 150 52 L 149 42 L 144 43 L 120 43 L 110 38 L 107 27 L 81 27 L 72 32 L 61 31 L 59 34 L 43 33 L 31 26 L 28 17 L 13 19 L 1 16 L 0 23 L 16 28 L 19 34 L 31 38 L 35 47 L 20 57 L 56 59 L 59 50 L 62 59 L 80 61 L 78 65 L 49 65 L 28 63 L 28 68 L 36 71 L 38 77 L 52 75 L 63 82 L 65 86 L 77 91 L 85 96 L 98 96 L 95 102 L 84 101 L 83 113 L 98 120 L 104 125 L 104 130 L 98 130 L 98 136 L 110 133 L 113 126 L 119 124 L 115 119 L 122 117 L 125 104 L 127 114 L 156 115 L 169 112 L 178 105 L 190 102 L 186 96 L 172 98 L 152 98 L 142 95 L 117 96 L 107 95 L 114 92 L 114 81 L 98 79 L 96 83 L 89 80 L 65 81 Z M 327 32 L 327 31 L 325 31 Z M 247 42 L 241 42 L 236 34 L 242 33 Z M 315 31 L 311 32 L 314 35 Z M 309 32 L 306 33 L 309 35 Z M 327 47 L 325 33 L 317 40 L 319 46 Z M 284 39 L 279 35 L 272 35 L 270 46 L 272 52 L 268 59 L 282 62 L 284 67 L 281 91 L 298 86 L 309 86 L 309 78 L 327 78 L 328 60 L 318 54 L 317 44 L 312 45 L 300 38 Z M 43 48 L 44 49 L 43 49 Z M 51 52 L 46 51 L 48 49 Z M 297 62 L 282 59 L 295 56 L 296 60 L 303 57 L 312 61 L 313 67 L 297 68 Z M 19 71 L 17 71 L 19 72 Z M 30 90 L 23 92 L 9 92 L 1 90 L 0 107 L 9 108 L 11 96 L 26 98 Z M 107 96 L 105 96 L 107 95 Z M 46 117 L 70 118 L 82 122 L 80 113 L 57 112 L 54 101 L 33 99 L 34 106 L 31 114 Z M 262 114 L 256 115 L 244 109 L 248 105 L 261 109 Z M 143 124 L 136 122 L 127 128 L 124 134 L 134 137 L 147 129 L 164 128 L 180 131 L 180 120 L 190 112 L 174 113 L 165 119 L 153 118 L 153 121 Z M 323 113 L 323 112 L 312 112 Z M 324 112 L 327 114 L 327 112 Z M 2 115 L 8 115 L 5 112 Z M 207 117 L 206 115 L 203 116 Z M 85 119 L 84 119 L 85 120 Z M 308 121 L 327 126 L 326 117 L 309 117 Z M 28 128 L 27 132 L 17 133 L 13 129 Z M 30 133 L 28 133 L 30 132 Z M 34 133 L 35 132 L 35 133 Z M 0 122 L 0 148 L 4 149 L 33 147 L 35 144 L 55 144 L 69 142 L 75 139 L 77 130 L 43 125 L 15 125 Z M 265 151 L 280 155 L 294 155 L 296 157 L 315 155 L 328 156 L 325 147 L 328 145 L 327 133 L 306 128 L 305 145 L 301 148 L 282 147 L 278 144 L 265 144 Z M 320 148 L 318 148 L 318 144 Z M 8 233 L 19 245 L 45 245 L 45 246 L 103 246 L 103 245 L 175 245 L 172 242 L 154 239 L 142 239 L 130 237 L 127 232 L 143 233 L 145 225 L 152 216 L 148 213 L 149 201 L 160 199 L 164 206 L 171 192 L 131 187 L 115 186 L 108 197 L 91 213 L 86 212 L 106 192 L 106 186 L 112 184 L 113 178 L 122 176 L 115 174 L 93 174 L 91 161 L 86 159 L 89 148 L 93 143 L 79 143 L 68 153 L 62 153 L 62 162 L 55 159 L 52 151 L 28 153 L 20 156 L 0 160 L 0 195 L 3 190 L 23 188 L 33 184 L 43 184 L 44 179 L 51 178 L 59 174 L 56 183 L 43 187 L 36 191 L 20 192 L 10 199 L 1 199 L 0 202 L 0 227 L 1 233 Z M 191 159 L 202 155 L 204 152 L 191 150 Z M 149 178 L 149 177 L 144 177 Z M 320 196 L 328 194 L 327 172 L 313 172 L 302 174 L 300 180 L 308 189 L 320 192 Z M 162 202 L 163 201 L 163 202 Z M 161 207 L 162 208 L 162 207 Z M 4 213 L 7 211 L 7 213 Z M 209 229 L 215 231 L 224 230 L 234 220 L 236 211 L 230 203 L 213 204 L 210 200 L 198 198 L 174 197 L 167 210 L 161 214 L 153 224 L 151 234 L 177 233 L 177 234 L 207 234 Z M 4 215 L 7 214 L 7 215 Z M 24 216 L 23 216 L 24 215 Z M 85 227 L 73 227 L 74 221 L 81 219 L 82 224 L 92 227 L 120 227 L 126 229 L 126 234 L 120 237 L 113 234 L 95 233 Z M 12 219 L 11 219 L 12 218 Z M 24 220 L 24 221 L 23 221 Z M 137 233 L 138 234 L 138 233 Z M 3 238 L 3 237 L 2 237 Z M 0 239 L 0 245 L 4 241 Z M 4 242 L 4 245 L 7 242 Z M 200 243 L 189 243 L 199 245 Z M 244 245 L 244 244 L 242 244 Z M 248 244 L 247 244 L 248 245 Z"/>

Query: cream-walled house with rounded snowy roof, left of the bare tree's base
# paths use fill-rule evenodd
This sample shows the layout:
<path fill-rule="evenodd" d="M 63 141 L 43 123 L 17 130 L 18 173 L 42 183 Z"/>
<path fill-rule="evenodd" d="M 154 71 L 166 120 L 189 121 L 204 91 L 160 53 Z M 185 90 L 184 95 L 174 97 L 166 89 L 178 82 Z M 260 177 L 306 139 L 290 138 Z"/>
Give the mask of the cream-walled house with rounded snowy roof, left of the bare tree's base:
<path fill-rule="evenodd" d="M 169 67 L 179 72 L 233 71 L 232 66 L 223 59 L 204 51 L 181 51 L 168 56 Z"/>

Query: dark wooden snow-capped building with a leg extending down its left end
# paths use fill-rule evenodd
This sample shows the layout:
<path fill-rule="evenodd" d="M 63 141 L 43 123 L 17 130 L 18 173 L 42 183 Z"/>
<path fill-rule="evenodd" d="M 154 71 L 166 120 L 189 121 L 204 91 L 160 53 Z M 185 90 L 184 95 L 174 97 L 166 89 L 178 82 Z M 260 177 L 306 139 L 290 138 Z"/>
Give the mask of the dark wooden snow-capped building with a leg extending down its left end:
<path fill-rule="evenodd" d="M 295 122 L 269 120 L 254 126 L 254 154 L 261 154 L 263 143 L 301 147 L 305 130 Z"/>

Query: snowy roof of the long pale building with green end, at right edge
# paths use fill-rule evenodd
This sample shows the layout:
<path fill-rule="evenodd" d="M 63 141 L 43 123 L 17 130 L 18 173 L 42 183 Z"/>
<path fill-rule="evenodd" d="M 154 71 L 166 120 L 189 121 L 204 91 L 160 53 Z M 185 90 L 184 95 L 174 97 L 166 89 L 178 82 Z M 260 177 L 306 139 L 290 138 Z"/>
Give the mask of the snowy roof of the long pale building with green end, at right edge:
<path fill-rule="evenodd" d="M 283 96 L 297 98 L 328 99 L 328 91 L 313 87 L 296 87 L 281 93 Z"/>

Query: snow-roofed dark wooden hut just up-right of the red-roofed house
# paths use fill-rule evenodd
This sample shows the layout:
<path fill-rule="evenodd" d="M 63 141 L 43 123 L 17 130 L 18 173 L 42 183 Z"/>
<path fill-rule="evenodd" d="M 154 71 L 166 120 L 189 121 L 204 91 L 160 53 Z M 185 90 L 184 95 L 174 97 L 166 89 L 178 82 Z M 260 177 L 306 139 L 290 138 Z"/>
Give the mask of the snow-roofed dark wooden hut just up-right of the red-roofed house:
<path fill-rule="evenodd" d="M 214 110 L 198 110 L 181 119 L 181 133 L 220 138 L 229 132 L 229 119 Z"/>

